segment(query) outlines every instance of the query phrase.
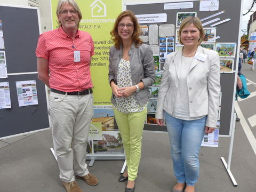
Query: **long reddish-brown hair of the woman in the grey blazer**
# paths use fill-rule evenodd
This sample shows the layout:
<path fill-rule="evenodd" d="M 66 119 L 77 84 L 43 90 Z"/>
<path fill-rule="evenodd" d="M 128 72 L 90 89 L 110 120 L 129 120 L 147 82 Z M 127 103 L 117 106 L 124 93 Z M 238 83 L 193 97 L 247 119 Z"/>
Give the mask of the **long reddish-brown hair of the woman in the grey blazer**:
<path fill-rule="evenodd" d="M 135 43 L 135 46 L 138 47 L 139 44 L 142 44 L 142 40 L 140 39 L 140 35 L 142 34 L 142 30 L 140 28 L 139 22 L 135 17 L 134 13 L 130 10 L 123 11 L 120 13 L 115 21 L 113 30 L 110 31 L 111 39 L 114 41 L 116 49 L 120 49 L 122 44 L 122 38 L 118 35 L 118 24 L 124 17 L 130 17 L 133 23 L 133 34 L 132 41 Z"/>

